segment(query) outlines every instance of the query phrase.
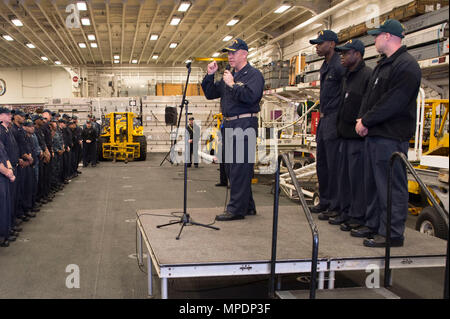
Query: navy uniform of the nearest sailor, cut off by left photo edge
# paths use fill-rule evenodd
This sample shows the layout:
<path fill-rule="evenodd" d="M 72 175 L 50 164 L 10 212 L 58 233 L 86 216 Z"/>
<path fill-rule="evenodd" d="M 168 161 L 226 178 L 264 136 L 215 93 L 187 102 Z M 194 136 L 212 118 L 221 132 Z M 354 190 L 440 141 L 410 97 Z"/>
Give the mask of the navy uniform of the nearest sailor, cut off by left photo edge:
<path fill-rule="evenodd" d="M 6 153 L 5 145 L 0 140 L 0 163 L 8 167 L 7 161 L 8 154 Z M 9 237 L 11 230 L 11 195 L 9 193 L 9 184 L 9 178 L 0 173 L 0 242 Z"/>

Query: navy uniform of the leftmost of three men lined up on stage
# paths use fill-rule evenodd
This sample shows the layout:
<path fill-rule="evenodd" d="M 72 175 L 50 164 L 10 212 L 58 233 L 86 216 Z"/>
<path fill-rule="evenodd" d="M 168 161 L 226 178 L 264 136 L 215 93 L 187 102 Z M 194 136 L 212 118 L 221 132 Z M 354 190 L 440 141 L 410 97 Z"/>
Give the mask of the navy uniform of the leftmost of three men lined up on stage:
<path fill-rule="evenodd" d="M 341 102 L 342 78 L 345 68 L 340 56 L 334 53 L 320 68 L 320 121 L 317 127 L 316 170 L 319 180 L 320 207 L 340 212 L 339 147 L 337 115 Z"/>

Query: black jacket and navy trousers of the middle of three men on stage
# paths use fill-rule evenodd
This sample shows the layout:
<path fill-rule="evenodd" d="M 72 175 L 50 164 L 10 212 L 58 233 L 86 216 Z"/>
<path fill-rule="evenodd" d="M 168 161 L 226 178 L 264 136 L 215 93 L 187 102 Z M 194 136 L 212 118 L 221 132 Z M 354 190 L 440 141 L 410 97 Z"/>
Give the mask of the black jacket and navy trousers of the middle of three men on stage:
<path fill-rule="evenodd" d="M 369 84 L 372 69 L 361 61 L 343 80 L 342 104 L 338 113 L 338 136 L 342 138 L 339 169 L 341 216 L 364 225 L 364 138 L 355 131 L 356 118 Z"/>

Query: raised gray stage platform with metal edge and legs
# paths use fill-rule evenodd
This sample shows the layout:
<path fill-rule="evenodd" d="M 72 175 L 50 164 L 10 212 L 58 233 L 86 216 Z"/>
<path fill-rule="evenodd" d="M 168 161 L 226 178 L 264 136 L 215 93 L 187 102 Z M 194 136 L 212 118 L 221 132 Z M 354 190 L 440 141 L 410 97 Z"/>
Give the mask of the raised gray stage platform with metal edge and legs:
<path fill-rule="evenodd" d="M 191 208 L 187 212 L 194 222 L 212 224 L 222 210 Z M 143 264 L 145 243 L 149 295 L 153 295 L 152 264 L 161 279 L 163 299 L 168 298 L 170 278 L 270 274 L 273 207 L 257 210 L 256 216 L 244 220 L 215 222 L 213 226 L 220 230 L 186 226 L 179 240 L 175 238 L 181 225 L 156 226 L 178 220 L 182 209 L 138 210 L 138 259 Z M 317 220 L 316 224 L 319 289 L 324 289 L 326 273 L 328 288 L 333 289 L 335 271 L 365 271 L 369 265 L 384 267 L 383 248 L 364 247 L 362 239 L 351 237 L 328 222 Z M 405 245 L 391 249 L 391 268 L 445 267 L 446 249 L 446 241 L 406 228 Z M 302 208 L 280 206 L 276 274 L 309 273 L 311 254 L 312 236 Z"/>

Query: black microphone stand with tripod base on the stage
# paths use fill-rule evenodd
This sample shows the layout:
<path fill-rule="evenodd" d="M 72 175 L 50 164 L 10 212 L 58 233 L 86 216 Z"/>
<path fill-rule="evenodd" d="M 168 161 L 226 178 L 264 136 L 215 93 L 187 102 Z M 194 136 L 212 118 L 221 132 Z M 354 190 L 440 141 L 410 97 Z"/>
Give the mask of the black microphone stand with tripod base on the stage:
<path fill-rule="evenodd" d="M 187 91 L 187 86 L 189 83 L 189 75 L 191 74 L 191 63 L 187 63 L 186 67 L 188 68 L 188 75 L 187 75 L 187 79 L 186 79 L 186 85 L 184 87 L 184 92 L 183 92 L 183 100 L 181 102 L 181 108 L 183 108 L 183 106 L 186 106 L 186 111 L 185 111 L 185 118 L 186 118 L 186 125 L 188 123 L 188 102 L 186 101 L 186 91 Z M 180 126 L 180 119 L 181 119 L 181 113 L 180 113 L 180 118 L 178 119 L 178 127 Z M 177 127 L 177 132 L 178 132 L 178 127 Z M 176 142 L 176 140 L 175 140 Z M 194 225 L 194 226 L 202 226 L 202 227 L 206 227 L 206 228 L 211 228 L 211 229 L 215 229 L 215 230 L 219 230 L 219 228 L 214 227 L 214 226 L 210 226 L 210 225 L 204 225 L 204 224 L 199 224 L 196 223 L 194 221 L 191 220 L 191 216 L 187 213 L 186 211 L 186 204 L 187 204 L 187 162 L 189 161 L 189 156 L 188 156 L 188 134 L 184 135 L 184 143 L 186 145 L 185 147 L 185 157 L 184 157 L 184 199 L 183 199 L 183 216 L 180 217 L 179 221 L 176 222 L 170 222 L 167 224 L 163 224 L 163 225 L 158 225 L 156 226 L 156 228 L 161 228 L 161 227 L 165 227 L 165 226 L 169 226 L 169 225 L 175 225 L 175 224 L 181 224 L 181 229 L 180 232 L 178 233 L 178 236 L 176 237 L 176 239 L 180 239 L 181 236 L 181 232 L 183 231 L 184 226 L 186 225 Z M 166 155 L 167 157 L 167 155 Z M 165 159 L 164 159 L 165 160 Z M 164 162 L 163 160 L 163 162 Z M 162 164 L 162 163 L 161 163 Z"/>

